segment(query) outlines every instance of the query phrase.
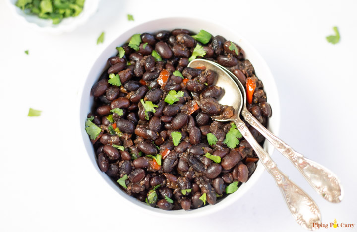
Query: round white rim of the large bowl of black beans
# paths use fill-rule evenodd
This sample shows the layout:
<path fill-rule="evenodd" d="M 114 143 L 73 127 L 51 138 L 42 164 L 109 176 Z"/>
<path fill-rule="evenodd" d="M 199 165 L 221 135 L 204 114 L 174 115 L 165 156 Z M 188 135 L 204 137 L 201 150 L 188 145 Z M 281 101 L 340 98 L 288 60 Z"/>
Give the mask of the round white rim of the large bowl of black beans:
<path fill-rule="evenodd" d="M 220 211 L 224 208 L 226 208 L 227 206 L 229 206 L 230 204 L 236 202 L 241 196 L 243 196 L 256 182 L 257 180 L 260 178 L 260 176 L 262 175 L 263 171 L 265 170 L 264 167 L 262 167 L 262 164 L 258 164 L 257 165 L 257 169 L 255 170 L 255 172 L 250 176 L 249 178 L 249 181 L 247 181 L 247 183 L 244 183 L 245 188 L 243 189 L 240 189 L 240 191 L 237 191 L 235 192 L 235 194 L 230 194 L 229 196 L 227 196 L 225 199 L 222 200 L 222 202 L 219 202 L 218 204 L 212 206 L 212 205 L 207 205 L 205 207 L 202 207 L 202 208 L 199 208 L 199 209 L 194 209 L 194 210 L 189 210 L 189 211 L 184 211 L 184 210 L 173 210 L 173 211 L 165 211 L 165 210 L 162 210 L 162 209 L 159 209 L 159 208 L 153 208 L 153 207 L 150 207 L 148 206 L 146 203 L 143 203 L 143 202 L 140 202 L 139 200 L 137 200 L 136 198 L 132 197 L 132 196 L 129 196 L 127 195 L 124 191 L 122 191 L 115 183 L 114 181 L 112 181 L 110 179 L 109 176 L 107 176 L 105 173 L 103 173 L 99 167 L 98 167 L 98 164 L 96 162 L 96 158 L 95 156 L 94 157 L 91 157 L 93 156 L 93 147 L 87 147 L 85 145 L 85 139 L 88 141 L 89 138 L 88 138 L 88 135 L 84 129 L 84 123 L 83 123 L 83 118 L 82 115 L 82 108 L 84 108 L 83 106 L 83 100 L 84 98 L 87 98 L 87 99 L 90 99 L 90 98 L 93 98 L 93 97 L 90 97 L 90 96 L 83 96 L 85 90 L 86 90 L 86 87 L 90 86 L 89 88 L 92 87 L 93 83 L 91 85 L 88 85 L 88 81 L 89 79 L 91 78 L 91 73 L 92 73 L 92 70 L 95 69 L 96 66 L 98 66 L 100 63 L 101 65 L 103 65 L 104 63 L 107 64 L 107 59 L 108 59 L 108 56 L 106 55 L 108 52 L 107 50 L 111 49 L 111 48 L 115 48 L 117 46 L 117 40 L 120 38 L 120 37 L 123 37 L 124 35 L 126 34 L 136 34 L 136 33 L 143 33 L 142 31 L 142 27 L 146 26 L 146 25 L 151 25 L 151 24 L 154 24 L 154 25 L 160 25 L 162 22 L 165 22 L 165 21 L 196 21 L 196 22 L 199 22 L 201 25 L 208 25 L 208 27 L 212 27 L 212 26 L 215 26 L 215 27 L 219 27 L 222 29 L 222 31 L 224 32 L 229 32 L 231 34 L 233 34 L 235 36 L 235 41 L 236 39 L 239 38 L 239 41 L 237 41 L 237 43 L 239 44 L 240 41 L 244 41 L 244 47 L 243 49 L 246 50 L 246 48 L 248 48 L 248 50 L 250 51 L 250 54 L 253 54 L 254 53 L 254 57 L 256 58 L 256 60 L 259 60 L 259 63 L 260 65 L 262 66 L 262 69 L 264 69 L 264 77 L 263 79 L 268 79 L 269 81 L 271 81 L 270 83 L 270 90 L 269 91 L 274 91 L 274 93 L 272 93 L 271 95 L 275 95 L 275 102 L 274 102 L 274 108 L 273 108 L 273 114 L 274 114 L 274 118 L 275 118 L 275 124 L 274 124 L 274 131 L 272 131 L 274 134 L 278 135 L 278 132 L 279 132 L 279 127 L 280 127 L 280 102 L 279 102 L 279 96 L 278 96 L 278 92 L 277 92 L 277 87 L 276 87 L 276 84 L 275 84 L 275 81 L 274 81 L 274 78 L 273 78 L 273 75 L 267 65 L 267 63 L 265 62 L 265 60 L 261 57 L 261 55 L 258 53 L 258 51 L 243 37 L 241 36 L 239 33 L 235 32 L 234 30 L 232 30 L 231 28 L 227 28 L 226 26 L 222 26 L 214 21 L 211 21 L 211 20 L 207 20 L 207 19 L 200 19 L 200 18 L 194 18 L 194 17 L 163 17 L 163 18 L 157 18 L 157 19 L 153 19 L 153 20 L 150 20 L 150 21 L 146 21 L 146 22 L 143 22 L 143 23 L 140 23 L 138 25 L 135 25 L 134 27 L 128 29 L 128 30 L 125 30 L 124 32 L 121 32 L 119 33 L 119 35 L 113 39 L 113 41 L 108 44 L 106 46 L 106 48 L 103 48 L 102 52 L 100 53 L 100 55 L 98 56 L 98 58 L 92 63 L 91 65 L 91 68 L 88 72 L 88 74 L 85 76 L 85 78 L 83 78 L 83 82 L 81 81 L 79 84 L 81 85 L 80 86 L 80 90 L 79 90 L 79 93 L 78 93 L 78 96 L 79 96 L 79 127 L 80 127 L 80 131 L 81 131 L 81 135 L 82 135 L 82 145 L 84 146 L 84 149 L 86 150 L 86 153 L 87 155 L 89 155 L 89 158 L 91 159 L 93 165 L 95 166 L 95 169 L 97 170 L 97 172 L 105 179 L 105 181 L 114 189 L 116 190 L 119 195 L 120 195 L 120 199 L 121 198 L 124 198 L 126 201 L 130 202 L 130 203 L 133 203 L 132 205 L 135 205 L 135 207 L 138 209 L 138 210 L 144 210 L 145 212 L 147 213 L 152 213 L 156 216 L 159 216 L 159 217 L 167 217 L 167 218 L 188 218 L 188 217 L 200 217 L 200 216 L 205 216 L 205 215 L 208 215 L 208 214 L 212 214 L 214 212 L 217 212 L 217 211 Z M 160 26 L 157 26 L 160 28 Z M 175 28 L 179 28 L 179 27 L 175 27 Z M 189 26 L 188 26 L 189 28 Z M 140 31 L 139 31 L 140 30 Z M 161 29 L 157 29 L 157 30 L 165 30 L 165 28 L 161 28 Z M 138 32 L 139 31 L 139 32 Z M 209 30 L 208 30 L 209 31 Z M 130 38 L 130 37 L 126 37 L 125 41 L 127 41 L 127 38 Z M 125 41 L 123 43 L 125 43 Z M 105 62 L 104 62 L 105 60 Z M 255 65 L 256 65 L 256 60 L 255 60 Z M 253 63 L 252 63 L 253 64 Z M 259 65 L 259 66 L 260 66 Z M 105 65 L 104 65 L 105 66 Z M 254 66 L 254 64 L 253 64 Z M 254 66 L 255 67 L 255 66 Z M 257 75 L 257 77 L 260 79 L 260 76 Z M 94 79 L 95 82 L 98 81 L 98 76 Z M 92 78 L 93 79 L 93 78 Z M 265 80 L 266 82 L 267 80 Z M 94 83 L 95 83 L 94 82 Z M 267 93 L 267 96 L 270 95 L 270 92 Z M 268 97 L 269 99 L 269 97 Z M 86 108 L 86 110 L 88 110 L 88 108 Z M 85 116 L 87 115 L 88 111 L 85 112 Z M 269 128 L 269 129 L 272 129 L 272 128 Z M 267 140 L 265 140 L 265 143 L 263 145 L 263 148 L 266 150 L 266 149 L 269 149 L 269 155 L 272 155 L 273 154 L 273 150 L 274 148 L 272 147 L 271 144 L 268 143 Z M 92 149 L 92 152 L 89 151 L 89 149 Z M 95 151 L 94 151 L 94 154 L 95 154 Z M 259 168 L 260 167 L 260 168 Z M 259 171 L 258 171 L 259 169 Z M 258 172 L 257 172 L 258 171 Z M 184 211 L 184 212 L 183 212 Z M 183 213 L 181 213 L 183 212 Z"/>

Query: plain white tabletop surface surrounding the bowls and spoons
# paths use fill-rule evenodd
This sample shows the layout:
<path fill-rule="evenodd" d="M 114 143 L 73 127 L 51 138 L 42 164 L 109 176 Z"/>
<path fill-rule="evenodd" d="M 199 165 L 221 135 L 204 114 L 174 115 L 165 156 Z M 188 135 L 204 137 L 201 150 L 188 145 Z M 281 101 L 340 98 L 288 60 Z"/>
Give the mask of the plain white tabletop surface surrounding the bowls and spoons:
<path fill-rule="evenodd" d="M 302 230 L 266 171 L 229 208 L 181 221 L 134 211 L 94 169 L 76 124 L 78 90 L 99 53 L 120 33 L 167 16 L 217 20 L 255 46 L 278 87 L 280 137 L 337 174 L 344 200 L 325 201 L 287 159 L 275 152 L 274 160 L 315 199 L 323 223 L 336 218 L 355 223 L 340 231 L 355 231 L 356 9 L 353 0 L 102 0 L 85 25 L 55 36 L 30 29 L 0 0 L 0 231 Z M 134 22 L 127 21 L 128 13 Z M 333 26 L 341 34 L 337 45 L 325 39 Z M 96 45 L 102 31 L 104 44 Z M 42 115 L 27 117 L 29 107 Z"/>

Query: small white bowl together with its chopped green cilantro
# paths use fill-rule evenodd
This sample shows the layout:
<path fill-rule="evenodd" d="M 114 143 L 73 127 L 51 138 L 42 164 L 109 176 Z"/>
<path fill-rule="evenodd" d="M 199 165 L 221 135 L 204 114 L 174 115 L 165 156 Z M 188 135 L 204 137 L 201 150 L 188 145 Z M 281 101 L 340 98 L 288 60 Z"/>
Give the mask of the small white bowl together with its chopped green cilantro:
<path fill-rule="evenodd" d="M 8 0 L 23 21 L 42 31 L 60 34 L 85 23 L 99 0 Z"/>

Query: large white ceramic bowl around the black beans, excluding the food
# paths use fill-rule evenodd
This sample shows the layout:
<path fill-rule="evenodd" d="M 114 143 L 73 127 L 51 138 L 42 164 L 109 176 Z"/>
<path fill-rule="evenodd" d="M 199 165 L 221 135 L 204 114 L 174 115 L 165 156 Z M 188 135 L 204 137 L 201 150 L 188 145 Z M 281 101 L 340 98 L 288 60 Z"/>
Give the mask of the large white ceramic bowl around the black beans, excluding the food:
<path fill-rule="evenodd" d="M 264 167 L 258 162 L 255 172 L 252 174 L 250 179 L 242 184 L 239 189 L 233 193 L 229 194 L 221 202 L 217 202 L 215 205 L 207 205 L 205 207 L 194 209 L 190 211 L 184 210 L 174 210 L 174 211 L 164 211 L 162 209 L 153 208 L 148 206 L 144 202 L 138 201 L 136 198 L 131 197 L 125 194 L 116 183 L 114 183 L 109 176 L 103 173 L 97 164 L 95 151 L 91 144 L 91 141 L 84 129 L 84 124 L 87 118 L 87 114 L 91 111 L 91 106 L 93 104 L 93 97 L 90 96 L 90 91 L 94 83 L 97 82 L 99 76 L 102 72 L 108 68 L 107 59 L 111 56 L 117 54 L 116 47 L 124 44 L 133 34 L 144 33 L 144 32 L 157 32 L 159 30 L 172 30 L 175 28 L 185 28 L 191 30 L 192 32 L 199 32 L 201 29 L 204 29 L 210 32 L 213 36 L 222 35 L 228 40 L 235 41 L 240 47 L 245 51 L 246 59 L 249 59 L 253 64 L 256 75 L 264 83 L 264 90 L 267 94 L 267 100 L 272 108 L 272 117 L 269 118 L 268 129 L 274 134 L 277 134 L 279 131 L 280 123 L 280 108 L 279 108 L 279 98 L 277 94 L 277 89 L 274 83 L 273 76 L 259 53 L 243 38 L 239 35 L 238 32 L 235 32 L 231 29 L 227 29 L 222 25 L 215 24 L 213 22 L 196 19 L 196 18 L 163 18 L 153 21 L 149 21 L 143 24 L 140 24 L 130 30 L 119 35 L 99 56 L 99 58 L 94 62 L 91 70 L 89 71 L 88 77 L 83 83 L 83 89 L 80 93 L 80 111 L 79 111 L 79 126 L 83 137 L 83 142 L 85 148 L 88 152 L 89 159 L 91 159 L 94 168 L 97 172 L 103 177 L 109 185 L 113 187 L 115 191 L 118 192 L 118 198 L 121 200 L 130 201 L 133 205 L 137 206 L 141 210 L 146 210 L 159 216 L 167 217 L 192 217 L 192 216 L 202 216 L 208 213 L 215 212 L 226 206 L 231 205 L 233 202 L 237 201 L 244 193 L 246 193 L 251 186 L 255 184 L 257 179 L 264 171 Z M 264 144 L 264 149 L 271 155 L 273 153 L 273 147 L 266 141 Z"/>

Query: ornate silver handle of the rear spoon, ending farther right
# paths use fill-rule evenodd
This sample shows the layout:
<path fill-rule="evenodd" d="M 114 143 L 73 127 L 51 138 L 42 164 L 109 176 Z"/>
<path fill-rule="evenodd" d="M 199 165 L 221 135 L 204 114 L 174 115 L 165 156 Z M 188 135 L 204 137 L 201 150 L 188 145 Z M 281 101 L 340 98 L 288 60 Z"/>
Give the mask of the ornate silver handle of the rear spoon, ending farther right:
<path fill-rule="evenodd" d="M 294 164 L 310 185 L 323 198 L 333 203 L 338 203 L 342 200 L 342 186 L 335 174 L 324 166 L 296 152 L 288 144 L 262 126 L 246 108 L 242 109 L 241 114 L 250 125 L 257 129 L 280 153 Z"/>

